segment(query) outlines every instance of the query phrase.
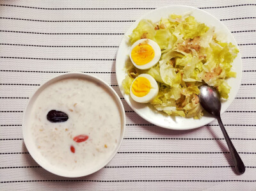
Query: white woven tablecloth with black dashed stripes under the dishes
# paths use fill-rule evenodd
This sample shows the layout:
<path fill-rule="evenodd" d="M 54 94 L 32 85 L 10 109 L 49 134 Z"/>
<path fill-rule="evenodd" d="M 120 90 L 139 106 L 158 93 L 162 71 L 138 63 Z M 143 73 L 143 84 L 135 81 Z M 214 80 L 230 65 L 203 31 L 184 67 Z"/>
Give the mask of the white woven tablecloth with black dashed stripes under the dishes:
<path fill-rule="evenodd" d="M 39 84 L 86 72 L 116 90 L 115 56 L 123 33 L 148 10 L 170 4 L 202 8 L 239 44 L 243 80 L 221 116 L 246 165 L 234 173 L 216 121 L 173 131 L 151 125 L 124 103 L 125 139 L 102 170 L 62 178 L 42 169 L 22 140 L 22 111 Z M 58 22 L 56 22 L 58 21 Z M 0 1 L 0 190 L 256 190 L 255 1 Z"/>

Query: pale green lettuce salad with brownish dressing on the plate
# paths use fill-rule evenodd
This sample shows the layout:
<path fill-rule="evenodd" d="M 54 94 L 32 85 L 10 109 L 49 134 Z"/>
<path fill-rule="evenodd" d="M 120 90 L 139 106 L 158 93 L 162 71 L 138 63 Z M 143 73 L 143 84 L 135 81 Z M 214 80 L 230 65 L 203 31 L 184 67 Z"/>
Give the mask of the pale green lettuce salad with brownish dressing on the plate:
<path fill-rule="evenodd" d="M 215 87 L 221 98 L 228 98 L 230 86 L 225 79 L 236 77 L 231 63 L 239 50 L 232 43 L 221 42 L 214 27 L 196 22 L 190 15 L 170 15 L 157 23 L 141 20 L 129 36 L 130 45 L 141 38 L 157 42 L 161 59 L 148 70 L 139 70 L 129 59 L 122 82 L 125 93 L 130 93 L 138 75 L 148 73 L 159 86 L 158 95 L 150 102 L 157 111 L 195 119 L 203 116 L 198 98 L 202 84 Z"/>

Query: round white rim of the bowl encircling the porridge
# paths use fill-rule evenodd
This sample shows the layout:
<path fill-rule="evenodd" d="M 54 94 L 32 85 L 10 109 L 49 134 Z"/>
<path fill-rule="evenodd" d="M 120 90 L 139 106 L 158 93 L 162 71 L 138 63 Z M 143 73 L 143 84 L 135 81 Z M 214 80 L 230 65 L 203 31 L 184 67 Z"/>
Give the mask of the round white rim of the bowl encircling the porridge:
<path fill-rule="evenodd" d="M 58 168 L 52 168 L 54 165 L 51 165 L 49 162 L 45 162 L 45 160 L 42 160 L 42 156 L 40 155 L 40 152 L 35 153 L 35 149 L 31 144 L 29 144 L 31 141 L 29 141 L 29 130 L 27 126 L 28 116 L 31 112 L 31 108 L 33 107 L 33 103 L 35 102 L 36 98 L 42 91 L 53 84 L 54 82 L 58 82 L 59 80 L 63 79 L 86 79 L 93 82 L 97 82 L 102 84 L 104 88 L 107 89 L 108 93 L 113 97 L 113 100 L 115 100 L 116 105 L 118 107 L 118 110 L 120 112 L 120 118 L 121 118 L 121 132 L 120 132 L 120 138 L 118 141 L 118 144 L 116 145 L 116 148 L 112 151 L 111 155 L 104 161 L 102 164 L 98 164 L 89 171 L 77 171 L 77 173 L 74 173 L 72 171 L 56 171 Z M 93 174 L 94 172 L 99 171 L 104 166 L 106 166 L 116 155 L 118 152 L 118 149 L 120 148 L 122 141 L 124 140 L 124 134 L 125 134 L 125 110 L 124 105 L 120 99 L 120 96 L 116 93 L 116 91 L 109 86 L 107 82 L 100 79 L 99 77 L 95 77 L 94 75 L 88 74 L 88 73 L 82 73 L 82 72 L 68 72 L 61 75 L 57 75 L 55 77 L 52 77 L 51 79 L 45 81 L 43 84 L 38 86 L 36 91 L 34 91 L 33 95 L 29 97 L 28 103 L 26 104 L 26 107 L 24 109 L 24 114 L 22 116 L 22 136 L 24 140 L 24 144 L 26 148 L 28 149 L 29 154 L 31 157 L 35 160 L 37 164 L 39 164 L 41 167 L 43 167 L 45 170 L 51 172 L 52 174 L 56 174 L 58 176 L 63 176 L 67 178 L 77 178 L 81 176 L 88 176 L 89 174 Z"/>

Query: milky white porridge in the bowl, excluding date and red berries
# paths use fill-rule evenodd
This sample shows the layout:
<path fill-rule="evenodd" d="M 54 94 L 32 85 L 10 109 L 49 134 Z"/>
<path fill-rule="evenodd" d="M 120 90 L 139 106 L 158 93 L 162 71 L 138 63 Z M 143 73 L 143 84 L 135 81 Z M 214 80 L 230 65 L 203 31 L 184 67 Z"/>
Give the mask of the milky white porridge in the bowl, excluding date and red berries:
<path fill-rule="evenodd" d="M 51 110 L 65 112 L 68 120 L 52 123 L 46 117 Z M 106 88 L 90 80 L 64 79 L 51 84 L 36 98 L 29 119 L 42 157 L 70 171 L 102 164 L 120 139 L 118 104 Z M 78 135 L 88 135 L 88 139 L 76 142 Z"/>

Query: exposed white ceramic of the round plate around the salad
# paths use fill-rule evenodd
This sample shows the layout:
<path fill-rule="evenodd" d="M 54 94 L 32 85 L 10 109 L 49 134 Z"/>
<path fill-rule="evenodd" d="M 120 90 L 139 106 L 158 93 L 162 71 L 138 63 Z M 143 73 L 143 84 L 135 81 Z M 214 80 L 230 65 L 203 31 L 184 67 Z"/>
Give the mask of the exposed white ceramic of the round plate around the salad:
<path fill-rule="evenodd" d="M 191 6 L 166 6 L 163 8 L 158 8 L 156 10 L 150 11 L 147 14 L 143 15 L 140 19 L 136 20 L 134 24 L 128 29 L 125 33 L 122 42 L 120 43 L 117 55 L 116 55 L 116 78 L 118 81 L 118 86 L 122 91 L 122 95 L 124 96 L 126 102 L 131 106 L 131 108 L 141 116 L 141 118 L 153 123 L 154 125 L 161 126 L 163 128 L 169 128 L 174 130 L 188 130 L 193 128 L 198 128 L 200 126 L 207 125 L 211 121 L 214 120 L 211 116 L 205 114 L 201 119 L 193 119 L 193 118 L 182 118 L 182 117 L 171 117 L 166 116 L 161 112 L 156 112 L 154 109 L 148 107 L 145 103 L 137 103 L 131 99 L 131 96 L 125 95 L 122 89 L 122 80 L 124 80 L 125 73 L 124 66 L 127 57 L 129 56 L 129 38 L 127 37 L 132 33 L 132 30 L 138 25 L 141 19 L 152 20 L 152 22 L 158 22 L 161 17 L 168 18 L 171 14 L 183 15 L 184 13 L 191 11 L 191 15 L 195 17 L 198 22 L 203 22 L 207 26 L 214 26 L 216 33 L 221 33 L 221 35 L 225 36 L 227 42 L 231 42 L 237 46 L 237 42 L 220 20 L 216 19 L 216 17 L 210 15 L 209 13 L 199 10 L 198 8 L 194 8 Z M 242 61 L 241 54 L 237 54 L 234 63 L 232 63 L 232 70 L 237 73 L 236 78 L 230 78 L 227 80 L 228 84 L 232 87 L 229 98 L 226 102 L 222 103 L 221 114 L 227 110 L 229 105 L 233 102 L 239 86 L 241 84 L 242 77 Z"/>

